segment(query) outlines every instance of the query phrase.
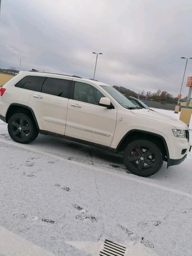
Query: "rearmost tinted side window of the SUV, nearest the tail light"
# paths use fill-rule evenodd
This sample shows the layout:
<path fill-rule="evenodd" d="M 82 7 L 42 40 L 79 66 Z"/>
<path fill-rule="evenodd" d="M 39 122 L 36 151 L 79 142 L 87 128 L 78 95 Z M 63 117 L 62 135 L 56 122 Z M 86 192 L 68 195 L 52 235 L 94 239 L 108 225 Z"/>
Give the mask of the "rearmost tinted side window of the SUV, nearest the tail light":
<path fill-rule="evenodd" d="M 41 92 L 44 80 L 45 77 L 42 76 L 26 76 L 15 84 L 15 86 L 31 91 Z"/>

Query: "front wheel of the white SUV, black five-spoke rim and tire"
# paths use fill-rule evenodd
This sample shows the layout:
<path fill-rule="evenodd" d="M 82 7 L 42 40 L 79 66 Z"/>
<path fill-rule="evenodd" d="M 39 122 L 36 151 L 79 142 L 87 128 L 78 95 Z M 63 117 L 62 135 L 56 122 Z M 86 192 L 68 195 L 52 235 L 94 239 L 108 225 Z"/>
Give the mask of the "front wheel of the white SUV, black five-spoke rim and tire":
<path fill-rule="evenodd" d="M 149 177 L 161 169 L 163 156 L 161 150 L 148 140 L 134 140 L 124 151 L 127 169 L 138 176 Z"/>

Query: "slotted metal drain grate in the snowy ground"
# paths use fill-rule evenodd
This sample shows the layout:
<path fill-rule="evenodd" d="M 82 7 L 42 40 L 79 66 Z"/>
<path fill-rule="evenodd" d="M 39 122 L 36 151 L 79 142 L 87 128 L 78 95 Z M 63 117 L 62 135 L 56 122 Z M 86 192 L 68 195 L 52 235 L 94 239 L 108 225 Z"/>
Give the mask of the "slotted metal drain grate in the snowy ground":
<path fill-rule="evenodd" d="M 100 256 L 125 256 L 126 247 L 111 242 L 109 240 L 105 240 L 103 244 L 103 249 L 99 252 Z"/>

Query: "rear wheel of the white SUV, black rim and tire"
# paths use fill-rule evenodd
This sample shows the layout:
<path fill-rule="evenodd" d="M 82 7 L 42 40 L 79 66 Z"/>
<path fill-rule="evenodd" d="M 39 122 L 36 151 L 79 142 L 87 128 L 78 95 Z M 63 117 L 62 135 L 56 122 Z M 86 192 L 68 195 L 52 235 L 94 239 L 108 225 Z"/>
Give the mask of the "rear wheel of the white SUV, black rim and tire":
<path fill-rule="evenodd" d="M 10 137 L 19 143 L 29 143 L 38 136 L 38 130 L 33 119 L 22 113 L 10 117 L 8 132 Z"/>

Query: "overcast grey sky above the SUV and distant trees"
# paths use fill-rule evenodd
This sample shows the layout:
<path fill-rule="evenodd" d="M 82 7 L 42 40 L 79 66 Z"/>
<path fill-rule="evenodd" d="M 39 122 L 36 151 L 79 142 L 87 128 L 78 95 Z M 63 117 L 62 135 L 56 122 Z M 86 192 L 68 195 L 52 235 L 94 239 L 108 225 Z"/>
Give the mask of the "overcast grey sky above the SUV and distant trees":
<path fill-rule="evenodd" d="M 192 57 L 191 0 L 2 0 L 0 67 L 92 78 L 139 90 L 180 91 Z M 183 96 L 188 94 L 188 61 Z"/>

